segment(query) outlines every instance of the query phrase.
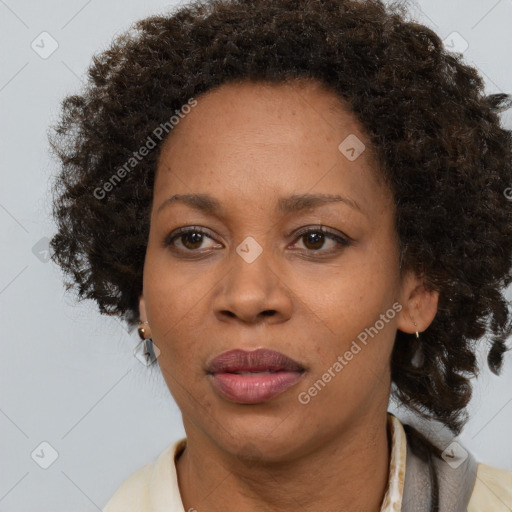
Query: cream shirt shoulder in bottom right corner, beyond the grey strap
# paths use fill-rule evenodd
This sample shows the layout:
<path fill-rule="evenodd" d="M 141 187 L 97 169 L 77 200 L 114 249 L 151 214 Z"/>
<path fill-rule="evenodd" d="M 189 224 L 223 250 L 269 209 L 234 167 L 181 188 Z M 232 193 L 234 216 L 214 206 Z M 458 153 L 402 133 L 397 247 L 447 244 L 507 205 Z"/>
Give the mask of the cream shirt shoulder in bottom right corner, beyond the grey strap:
<path fill-rule="evenodd" d="M 468 512 L 512 510 L 512 471 L 479 463 Z"/>

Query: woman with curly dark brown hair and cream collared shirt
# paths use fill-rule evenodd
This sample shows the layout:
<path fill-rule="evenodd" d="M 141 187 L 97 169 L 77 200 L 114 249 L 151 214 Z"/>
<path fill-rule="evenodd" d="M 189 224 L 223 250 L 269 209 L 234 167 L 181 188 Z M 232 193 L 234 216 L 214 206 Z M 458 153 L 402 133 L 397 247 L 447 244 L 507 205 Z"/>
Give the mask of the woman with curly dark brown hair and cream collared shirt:
<path fill-rule="evenodd" d="M 476 70 L 380 1 L 140 21 L 67 98 L 54 259 L 139 326 L 186 438 L 121 511 L 501 511 L 454 436 L 511 332 L 511 134 Z M 507 508 L 508 507 L 508 508 Z"/>

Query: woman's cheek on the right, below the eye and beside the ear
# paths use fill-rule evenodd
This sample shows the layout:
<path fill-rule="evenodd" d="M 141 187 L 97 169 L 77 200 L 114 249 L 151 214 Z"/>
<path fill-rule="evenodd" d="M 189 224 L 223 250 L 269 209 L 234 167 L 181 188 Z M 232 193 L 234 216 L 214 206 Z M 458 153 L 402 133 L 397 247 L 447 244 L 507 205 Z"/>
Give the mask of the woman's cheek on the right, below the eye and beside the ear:
<path fill-rule="evenodd" d="M 310 276 L 306 283 L 309 286 L 300 284 L 298 294 L 304 301 L 304 311 L 313 312 L 310 316 L 316 330 L 309 383 L 329 381 L 320 402 L 331 395 L 357 401 L 364 390 L 387 385 L 396 308 L 400 307 L 396 302 L 398 265 L 394 251 L 394 246 L 382 237 L 371 245 L 360 245 L 329 273 Z M 313 335 L 312 325 L 309 323 L 308 328 Z M 325 375 L 329 370 L 331 373 Z"/>

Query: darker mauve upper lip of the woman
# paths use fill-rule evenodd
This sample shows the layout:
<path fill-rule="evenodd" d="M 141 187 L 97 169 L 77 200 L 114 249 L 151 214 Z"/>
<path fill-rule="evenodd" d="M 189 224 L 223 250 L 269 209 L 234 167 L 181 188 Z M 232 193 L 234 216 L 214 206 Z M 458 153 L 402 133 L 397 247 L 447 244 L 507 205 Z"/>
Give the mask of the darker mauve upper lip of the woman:
<path fill-rule="evenodd" d="M 266 348 L 256 350 L 228 350 L 215 357 L 208 365 L 208 373 L 303 371 L 304 367 L 281 352 Z"/>

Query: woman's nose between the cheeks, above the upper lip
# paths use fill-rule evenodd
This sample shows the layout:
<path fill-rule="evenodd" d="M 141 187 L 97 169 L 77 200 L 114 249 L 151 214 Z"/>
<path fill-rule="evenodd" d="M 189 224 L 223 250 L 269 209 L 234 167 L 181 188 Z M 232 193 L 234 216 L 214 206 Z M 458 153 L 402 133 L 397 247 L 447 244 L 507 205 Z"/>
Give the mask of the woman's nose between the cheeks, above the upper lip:
<path fill-rule="evenodd" d="M 266 256 L 263 251 L 249 263 L 233 253 L 233 263 L 215 295 L 214 312 L 219 320 L 279 323 L 290 318 L 292 292 L 277 266 L 270 268 Z"/>

